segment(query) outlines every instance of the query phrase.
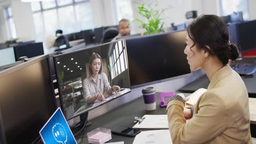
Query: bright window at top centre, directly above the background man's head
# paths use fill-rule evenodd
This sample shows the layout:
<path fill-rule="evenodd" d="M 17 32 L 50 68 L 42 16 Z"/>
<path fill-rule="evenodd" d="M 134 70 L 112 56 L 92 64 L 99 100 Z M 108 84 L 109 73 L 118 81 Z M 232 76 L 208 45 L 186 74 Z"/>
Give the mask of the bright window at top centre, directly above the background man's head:
<path fill-rule="evenodd" d="M 133 20 L 131 0 L 115 0 L 118 21 L 121 19 Z"/>

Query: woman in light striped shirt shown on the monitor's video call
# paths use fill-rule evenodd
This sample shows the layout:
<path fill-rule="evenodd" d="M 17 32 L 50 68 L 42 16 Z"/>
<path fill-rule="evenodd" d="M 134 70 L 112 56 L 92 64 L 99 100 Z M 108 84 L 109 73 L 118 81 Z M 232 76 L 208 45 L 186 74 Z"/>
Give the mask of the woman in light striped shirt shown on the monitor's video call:
<path fill-rule="evenodd" d="M 119 86 L 111 87 L 105 73 L 102 72 L 102 59 L 97 53 L 92 53 L 89 60 L 90 76 L 83 81 L 84 100 L 86 104 L 95 100 L 104 100 L 104 92 L 111 94 L 120 92 Z"/>

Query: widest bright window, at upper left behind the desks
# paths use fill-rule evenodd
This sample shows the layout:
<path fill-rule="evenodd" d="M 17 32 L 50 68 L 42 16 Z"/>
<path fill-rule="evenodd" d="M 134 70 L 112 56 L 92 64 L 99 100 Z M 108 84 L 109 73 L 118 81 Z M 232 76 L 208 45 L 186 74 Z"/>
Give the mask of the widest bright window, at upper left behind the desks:
<path fill-rule="evenodd" d="M 57 29 L 68 34 L 93 28 L 88 0 L 48 0 L 33 2 L 31 7 L 38 41 L 55 35 Z"/>

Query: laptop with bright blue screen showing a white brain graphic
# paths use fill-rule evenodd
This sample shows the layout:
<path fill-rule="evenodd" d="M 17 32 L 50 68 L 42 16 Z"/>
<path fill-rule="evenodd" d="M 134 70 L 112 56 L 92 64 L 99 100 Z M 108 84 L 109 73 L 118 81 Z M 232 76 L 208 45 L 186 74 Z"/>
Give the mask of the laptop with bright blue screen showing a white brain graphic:
<path fill-rule="evenodd" d="M 39 134 L 45 144 L 77 144 L 60 107 L 46 122 Z"/>

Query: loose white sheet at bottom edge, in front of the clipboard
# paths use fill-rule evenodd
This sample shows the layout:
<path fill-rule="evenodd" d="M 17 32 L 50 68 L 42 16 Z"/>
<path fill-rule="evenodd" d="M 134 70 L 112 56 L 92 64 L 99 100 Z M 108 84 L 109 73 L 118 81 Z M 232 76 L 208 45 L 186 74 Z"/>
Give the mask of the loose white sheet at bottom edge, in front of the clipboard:
<path fill-rule="evenodd" d="M 133 144 L 171 144 L 172 139 L 168 129 L 141 131 L 136 135 Z"/>

